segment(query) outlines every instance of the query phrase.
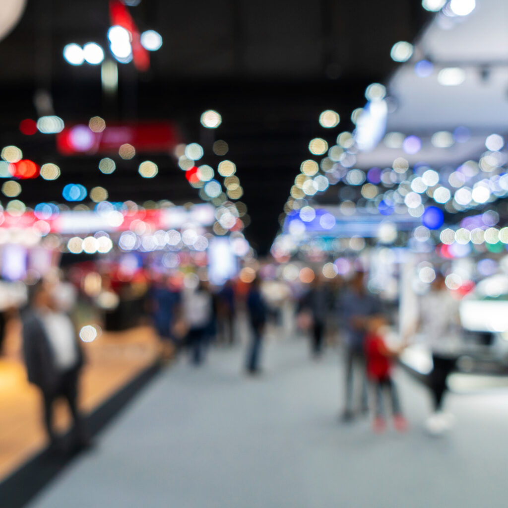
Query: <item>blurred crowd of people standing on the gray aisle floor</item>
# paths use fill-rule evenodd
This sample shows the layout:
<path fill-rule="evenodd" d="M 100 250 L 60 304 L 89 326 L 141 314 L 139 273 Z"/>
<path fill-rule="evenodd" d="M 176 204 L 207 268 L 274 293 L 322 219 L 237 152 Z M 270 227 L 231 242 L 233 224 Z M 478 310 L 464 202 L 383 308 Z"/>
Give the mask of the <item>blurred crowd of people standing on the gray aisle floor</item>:
<path fill-rule="evenodd" d="M 361 270 L 339 284 L 316 277 L 306 292 L 295 297 L 296 322 L 309 337 L 310 354 L 319 360 L 326 343 L 339 335 L 345 376 L 341 419 L 352 422 L 359 415 L 372 413 L 374 431 L 382 432 L 387 425 L 385 406 L 389 402 L 394 427 L 405 431 L 407 421 L 402 415 L 392 371 L 404 348 L 423 340 L 433 361 L 433 368 L 426 377 L 433 411 L 425 426 L 430 433 L 440 434 L 453 422 L 443 411 L 442 404 L 447 378 L 455 368 L 459 352 L 458 302 L 444 285 L 444 277 L 437 274 L 428 293 L 420 299 L 419 320 L 393 345 L 386 335 L 393 329 L 394 310 L 367 289 L 367 278 L 368 274 Z M 161 337 L 172 341 L 180 350 L 187 349 L 192 362 L 200 365 L 214 340 L 222 344 L 235 343 L 235 314 L 239 302 L 243 302 L 250 323 L 245 371 L 258 374 L 263 331 L 270 314 L 262 280 L 259 277 L 253 280 L 243 296 L 243 299 L 238 298 L 232 280 L 217 292 L 212 292 L 203 282 L 196 289 L 182 293 L 171 288 L 170 283 L 164 283 L 152 292 L 154 323 Z M 167 309 L 166 314 L 164 309 Z M 369 389 L 373 400 L 370 405 Z M 359 393 L 358 404 L 354 400 L 355 392 Z"/>

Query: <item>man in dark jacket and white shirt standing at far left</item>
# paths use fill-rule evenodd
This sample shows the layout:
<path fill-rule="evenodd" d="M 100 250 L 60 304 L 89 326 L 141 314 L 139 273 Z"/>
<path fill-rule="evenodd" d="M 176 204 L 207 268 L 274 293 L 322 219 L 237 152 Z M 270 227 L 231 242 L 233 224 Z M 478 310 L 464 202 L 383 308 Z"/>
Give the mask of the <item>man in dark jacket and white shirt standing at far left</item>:
<path fill-rule="evenodd" d="M 79 372 L 83 354 L 70 317 L 60 311 L 47 282 L 31 288 L 28 308 L 21 315 L 23 354 L 28 380 L 37 385 L 44 400 L 44 424 L 52 450 L 62 451 L 53 426 L 53 402 L 67 400 L 74 420 L 75 446 L 85 446 L 88 438 L 78 409 Z"/>

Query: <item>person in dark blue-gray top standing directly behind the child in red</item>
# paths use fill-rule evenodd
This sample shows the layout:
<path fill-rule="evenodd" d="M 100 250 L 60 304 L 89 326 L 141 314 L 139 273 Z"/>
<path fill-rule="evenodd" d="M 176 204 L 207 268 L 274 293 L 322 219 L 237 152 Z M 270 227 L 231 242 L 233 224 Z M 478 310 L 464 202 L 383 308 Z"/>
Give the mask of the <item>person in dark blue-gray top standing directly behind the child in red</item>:
<path fill-rule="evenodd" d="M 364 338 L 368 318 L 380 310 L 378 301 L 366 291 L 365 273 L 358 271 L 353 276 L 348 289 L 339 298 L 339 312 L 342 325 L 346 329 L 345 338 L 345 408 L 342 414 L 344 421 L 354 418 L 353 391 L 355 371 L 361 375 L 362 393 L 360 411 L 367 414 L 367 378 L 365 371 Z"/>

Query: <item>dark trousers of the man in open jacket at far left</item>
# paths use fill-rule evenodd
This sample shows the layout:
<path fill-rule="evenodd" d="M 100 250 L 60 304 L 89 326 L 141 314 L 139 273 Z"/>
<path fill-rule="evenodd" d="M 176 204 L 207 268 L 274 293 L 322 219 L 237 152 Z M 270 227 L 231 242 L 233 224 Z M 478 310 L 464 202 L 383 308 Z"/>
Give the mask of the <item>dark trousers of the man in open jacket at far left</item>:
<path fill-rule="evenodd" d="M 74 433 L 78 439 L 84 439 L 83 420 L 78 410 L 78 370 L 73 369 L 60 375 L 56 386 L 43 390 L 44 425 L 52 443 L 56 441 L 53 427 L 53 402 L 63 397 L 67 400 L 74 421 Z"/>

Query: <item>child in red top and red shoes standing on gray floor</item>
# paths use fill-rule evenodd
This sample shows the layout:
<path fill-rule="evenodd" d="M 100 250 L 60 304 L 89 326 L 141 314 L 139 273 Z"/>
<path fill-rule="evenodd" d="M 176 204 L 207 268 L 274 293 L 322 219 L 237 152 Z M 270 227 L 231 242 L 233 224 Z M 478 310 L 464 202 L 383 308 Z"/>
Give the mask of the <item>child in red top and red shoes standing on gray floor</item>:
<path fill-rule="evenodd" d="M 364 350 L 367 376 L 376 396 L 373 429 L 374 432 L 382 432 L 386 428 L 383 396 L 386 393 L 392 406 L 394 426 L 398 431 L 403 432 L 407 428 L 407 422 L 401 414 L 397 388 L 392 379 L 392 359 L 400 354 L 402 348 L 395 350 L 387 346 L 384 338 L 386 320 L 382 315 L 374 315 L 368 321 Z"/>

